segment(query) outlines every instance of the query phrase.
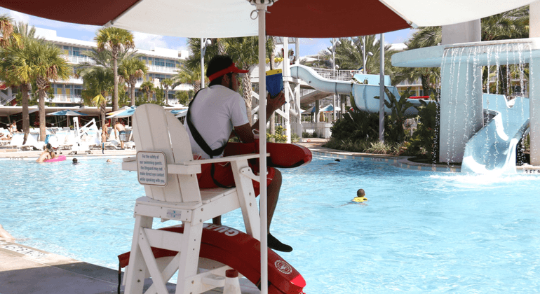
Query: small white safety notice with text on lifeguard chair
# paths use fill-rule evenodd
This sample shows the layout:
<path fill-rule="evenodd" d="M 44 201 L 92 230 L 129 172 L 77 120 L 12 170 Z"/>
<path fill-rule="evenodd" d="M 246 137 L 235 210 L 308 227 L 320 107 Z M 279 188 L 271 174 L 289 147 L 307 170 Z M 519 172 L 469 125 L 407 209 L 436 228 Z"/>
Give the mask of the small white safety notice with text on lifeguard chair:
<path fill-rule="evenodd" d="M 137 179 L 141 185 L 167 186 L 167 158 L 165 153 L 138 151 Z"/>

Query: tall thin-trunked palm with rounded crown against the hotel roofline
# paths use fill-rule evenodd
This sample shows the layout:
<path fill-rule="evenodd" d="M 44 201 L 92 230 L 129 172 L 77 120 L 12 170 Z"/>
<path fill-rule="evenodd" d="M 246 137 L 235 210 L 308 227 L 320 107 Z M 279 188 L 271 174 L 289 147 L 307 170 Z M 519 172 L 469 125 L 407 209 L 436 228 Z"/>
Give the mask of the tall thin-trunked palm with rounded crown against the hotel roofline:
<path fill-rule="evenodd" d="M 135 42 L 133 41 L 133 34 L 126 29 L 119 29 L 117 27 L 103 27 L 97 30 L 97 36 L 95 36 L 97 42 L 97 50 L 108 50 L 111 52 L 113 62 L 114 73 L 114 98 L 112 101 L 112 110 L 118 110 L 118 59 L 120 52 L 126 48 L 135 48 Z"/>

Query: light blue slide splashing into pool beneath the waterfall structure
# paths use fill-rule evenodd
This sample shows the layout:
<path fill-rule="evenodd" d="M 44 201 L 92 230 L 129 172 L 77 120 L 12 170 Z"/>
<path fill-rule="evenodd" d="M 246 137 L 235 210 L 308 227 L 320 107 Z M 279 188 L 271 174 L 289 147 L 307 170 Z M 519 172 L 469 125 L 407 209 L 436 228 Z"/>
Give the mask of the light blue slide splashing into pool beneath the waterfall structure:
<path fill-rule="evenodd" d="M 490 118 L 465 146 L 461 172 L 515 174 L 516 146 L 529 127 L 529 99 L 507 102 L 500 94 L 484 94 Z"/>

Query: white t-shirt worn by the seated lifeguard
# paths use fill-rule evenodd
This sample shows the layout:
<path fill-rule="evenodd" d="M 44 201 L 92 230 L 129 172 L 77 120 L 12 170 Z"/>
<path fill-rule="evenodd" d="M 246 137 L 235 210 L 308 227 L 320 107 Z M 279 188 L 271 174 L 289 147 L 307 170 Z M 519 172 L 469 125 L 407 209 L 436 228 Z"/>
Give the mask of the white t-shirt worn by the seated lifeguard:
<path fill-rule="evenodd" d="M 191 104 L 189 113 L 191 123 L 212 150 L 220 148 L 229 141 L 233 127 L 249 123 L 244 99 L 238 92 L 222 85 L 212 85 L 199 91 Z M 184 126 L 189 135 L 191 151 L 201 155 L 203 159 L 210 158 L 210 155 L 206 154 L 193 139 L 187 123 L 184 123 Z M 215 158 L 222 156 L 215 156 Z"/>

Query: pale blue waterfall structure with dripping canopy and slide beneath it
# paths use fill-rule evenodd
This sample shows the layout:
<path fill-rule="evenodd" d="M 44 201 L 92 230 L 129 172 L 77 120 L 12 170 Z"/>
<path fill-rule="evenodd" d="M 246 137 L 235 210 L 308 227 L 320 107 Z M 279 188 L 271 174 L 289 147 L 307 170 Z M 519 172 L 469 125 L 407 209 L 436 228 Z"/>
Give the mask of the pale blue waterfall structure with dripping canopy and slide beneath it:
<path fill-rule="evenodd" d="M 464 172 L 515 172 L 515 146 L 530 125 L 531 164 L 540 165 L 540 38 L 407 50 L 392 64 L 441 68 L 440 162 L 462 162 Z M 529 99 L 516 97 L 513 106 L 503 95 L 482 93 L 482 66 L 509 64 L 521 69 L 518 96 L 526 94 L 525 80 L 529 88 Z"/>

